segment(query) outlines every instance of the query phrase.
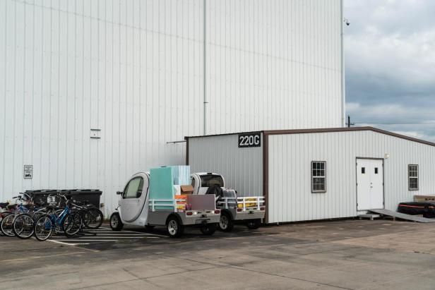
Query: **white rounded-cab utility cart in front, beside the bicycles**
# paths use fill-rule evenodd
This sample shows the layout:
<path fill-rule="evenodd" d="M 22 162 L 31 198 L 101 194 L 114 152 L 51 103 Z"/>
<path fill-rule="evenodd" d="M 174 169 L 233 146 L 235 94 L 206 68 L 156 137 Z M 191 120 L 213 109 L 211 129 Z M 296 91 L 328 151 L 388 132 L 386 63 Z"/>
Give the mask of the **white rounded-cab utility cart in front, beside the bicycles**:
<path fill-rule="evenodd" d="M 206 199 L 189 197 L 191 209 L 180 210 L 179 203 L 186 202 L 184 198 L 150 200 L 149 188 L 148 172 L 131 176 L 124 191 L 117 192 L 120 196 L 119 206 L 110 217 L 112 230 L 120 231 L 124 225 L 141 226 L 146 229 L 165 226 L 169 236 L 179 237 L 184 233 L 185 226 L 198 226 L 203 234 L 214 234 L 220 221 L 220 210 L 215 207 L 213 196 Z M 195 204 L 205 206 L 198 208 Z"/>

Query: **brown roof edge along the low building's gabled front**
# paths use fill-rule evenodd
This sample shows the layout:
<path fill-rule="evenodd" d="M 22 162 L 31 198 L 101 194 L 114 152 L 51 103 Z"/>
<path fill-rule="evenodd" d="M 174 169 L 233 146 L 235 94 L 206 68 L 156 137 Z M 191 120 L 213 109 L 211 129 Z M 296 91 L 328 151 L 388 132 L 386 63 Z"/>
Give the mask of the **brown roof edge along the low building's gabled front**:
<path fill-rule="evenodd" d="M 373 131 L 385 135 L 390 135 L 396 138 L 401 138 L 405 140 L 409 140 L 412 142 L 422 143 L 429 146 L 434 146 L 435 143 L 421 140 L 417 138 L 412 138 L 409 136 L 393 133 L 390 131 L 381 130 L 374 127 L 350 127 L 350 128 L 318 128 L 318 129 L 295 129 L 295 130 L 269 130 L 269 131 L 263 131 L 265 135 L 282 135 L 282 134 L 304 134 L 304 133 L 330 133 L 330 132 L 348 132 L 348 131 Z"/>

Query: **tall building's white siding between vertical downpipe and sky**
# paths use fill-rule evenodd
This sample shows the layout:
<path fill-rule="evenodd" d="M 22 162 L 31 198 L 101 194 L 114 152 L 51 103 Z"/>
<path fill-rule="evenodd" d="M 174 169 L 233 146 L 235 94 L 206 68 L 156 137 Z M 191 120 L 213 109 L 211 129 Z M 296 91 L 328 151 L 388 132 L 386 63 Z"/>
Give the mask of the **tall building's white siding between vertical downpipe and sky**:
<path fill-rule="evenodd" d="M 208 3 L 208 134 L 341 126 L 340 0 Z"/>

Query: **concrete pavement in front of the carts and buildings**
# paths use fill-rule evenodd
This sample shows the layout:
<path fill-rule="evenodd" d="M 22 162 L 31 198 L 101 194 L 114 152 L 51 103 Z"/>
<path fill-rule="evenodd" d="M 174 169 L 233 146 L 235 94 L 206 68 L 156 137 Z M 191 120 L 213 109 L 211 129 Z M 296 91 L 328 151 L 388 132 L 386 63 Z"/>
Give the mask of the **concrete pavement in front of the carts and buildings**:
<path fill-rule="evenodd" d="M 388 220 L 83 246 L 0 236 L 0 289 L 434 289 L 434 242 L 434 225 Z"/>

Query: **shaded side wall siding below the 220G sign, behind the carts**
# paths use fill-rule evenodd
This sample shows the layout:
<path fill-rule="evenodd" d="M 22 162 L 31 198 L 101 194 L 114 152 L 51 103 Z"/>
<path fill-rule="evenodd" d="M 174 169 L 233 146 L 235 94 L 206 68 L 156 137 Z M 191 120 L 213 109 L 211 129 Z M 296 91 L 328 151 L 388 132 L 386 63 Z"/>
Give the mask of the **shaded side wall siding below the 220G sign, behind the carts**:
<path fill-rule="evenodd" d="M 189 165 L 191 172 L 222 174 L 239 195 L 263 195 L 263 147 L 239 148 L 238 135 L 189 138 Z"/>

